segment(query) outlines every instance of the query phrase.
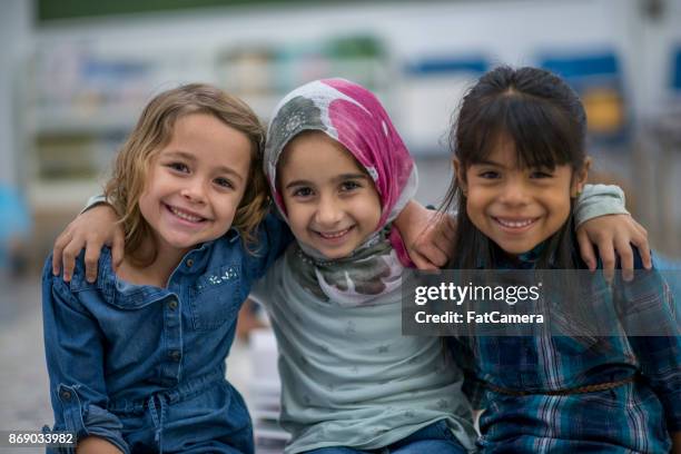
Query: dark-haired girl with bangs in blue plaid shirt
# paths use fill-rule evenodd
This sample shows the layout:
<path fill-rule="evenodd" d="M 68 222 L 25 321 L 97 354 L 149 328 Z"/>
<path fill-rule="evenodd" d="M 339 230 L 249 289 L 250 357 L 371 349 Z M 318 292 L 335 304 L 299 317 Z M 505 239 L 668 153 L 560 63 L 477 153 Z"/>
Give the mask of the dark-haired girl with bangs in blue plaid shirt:
<path fill-rule="evenodd" d="M 572 234 L 585 131 L 579 97 L 549 71 L 500 67 L 480 79 L 451 134 L 451 268 L 585 268 Z M 655 282 L 648 303 L 671 307 Z M 601 347 L 546 334 L 452 338 L 464 389 L 485 408 L 483 452 L 669 452 L 681 435 L 681 337 L 663 315 L 665 335 L 608 336 Z"/>

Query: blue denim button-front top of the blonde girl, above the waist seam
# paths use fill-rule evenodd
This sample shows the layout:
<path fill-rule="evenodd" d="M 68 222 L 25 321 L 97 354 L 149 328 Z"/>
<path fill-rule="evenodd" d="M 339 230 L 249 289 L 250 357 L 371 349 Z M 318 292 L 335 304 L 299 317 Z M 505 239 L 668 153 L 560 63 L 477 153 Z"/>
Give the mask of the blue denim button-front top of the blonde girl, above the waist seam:
<path fill-rule="evenodd" d="M 185 255 L 167 288 L 120 280 L 108 248 L 92 284 L 82 254 L 70 283 L 52 276 L 48 258 L 42 306 L 55 431 L 124 448 L 118 412 L 142 409 L 161 394 L 181 399 L 201 383 L 223 381 L 238 310 L 290 239 L 273 215 L 253 254 L 231 229 Z"/>

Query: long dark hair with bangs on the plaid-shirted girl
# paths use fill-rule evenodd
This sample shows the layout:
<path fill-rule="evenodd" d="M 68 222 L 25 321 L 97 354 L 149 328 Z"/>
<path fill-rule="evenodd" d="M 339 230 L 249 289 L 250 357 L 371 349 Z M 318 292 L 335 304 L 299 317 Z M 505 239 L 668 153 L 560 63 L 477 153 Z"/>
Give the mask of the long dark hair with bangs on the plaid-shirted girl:
<path fill-rule="evenodd" d="M 522 167 L 569 164 L 573 175 L 586 159 L 586 114 L 579 96 L 561 78 L 539 68 L 502 66 L 485 73 L 463 98 L 453 121 L 450 145 L 461 168 L 485 160 L 500 144 L 512 140 Z M 572 200 L 572 207 L 574 200 Z M 466 214 L 466 195 L 456 175 L 442 209 L 458 208 L 456 240 L 450 268 L 493 267 L 500 248 L 482 234 Z M 572 213 L 550 239 L 537 268 L 575 268 Z M 550 266 L 551 265 L 551 266 Z"/>

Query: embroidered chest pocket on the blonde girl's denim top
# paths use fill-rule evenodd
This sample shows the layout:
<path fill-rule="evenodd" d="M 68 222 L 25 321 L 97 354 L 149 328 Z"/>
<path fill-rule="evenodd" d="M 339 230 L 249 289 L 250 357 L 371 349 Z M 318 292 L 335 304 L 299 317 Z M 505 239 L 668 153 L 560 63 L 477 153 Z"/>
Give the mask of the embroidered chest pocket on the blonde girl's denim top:
<path fill-rule="evenodd" d="M 190 289 L 189 309 L 195 330 L 218 329 L 235 320 L 243 299 L 241 268 L 231 264 L 201 276 Z"/>

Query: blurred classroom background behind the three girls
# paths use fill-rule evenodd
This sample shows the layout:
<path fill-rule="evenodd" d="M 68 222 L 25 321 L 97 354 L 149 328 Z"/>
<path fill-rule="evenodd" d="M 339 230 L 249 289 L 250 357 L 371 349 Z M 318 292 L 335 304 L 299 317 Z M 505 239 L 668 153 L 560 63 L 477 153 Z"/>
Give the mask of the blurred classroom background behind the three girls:
<path fill-rule="evenodd" d="M 681 258 L 681 0 L 1 0 L 0 40 L 0 385 L 16 389 L 0 430 L 51 421 L 37 274 L 141 107 L 179 83 L 218 85 L 267 120 L 308 80 L 358 81 L 436 205 L 464 90 L 499 63 L 549 68 L 586 105 L 592 179 L 620 185 L 653 247 Z"/>

